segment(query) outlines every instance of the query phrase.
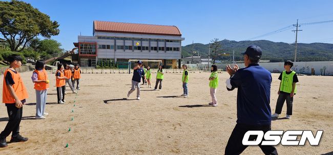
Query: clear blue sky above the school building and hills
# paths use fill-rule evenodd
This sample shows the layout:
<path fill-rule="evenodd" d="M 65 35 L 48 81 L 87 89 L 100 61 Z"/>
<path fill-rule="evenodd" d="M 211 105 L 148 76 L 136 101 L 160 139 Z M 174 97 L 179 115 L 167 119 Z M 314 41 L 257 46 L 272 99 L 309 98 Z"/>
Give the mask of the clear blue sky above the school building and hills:
<path fill-rule="evenodd" d="M 333 20 L 332 1 L 25 1 L 60 24 L 53 36 L 65 50 L 77 36 L 92 35 L 93 20 L 175 25 L 185 40 L 209 43 L 213 38 L 245 40 L 285 26 Z M 304 26 L 299 42 L 333 43 L 333 23 Z M 291 30 L 257 38 L 292 43 Z"/>

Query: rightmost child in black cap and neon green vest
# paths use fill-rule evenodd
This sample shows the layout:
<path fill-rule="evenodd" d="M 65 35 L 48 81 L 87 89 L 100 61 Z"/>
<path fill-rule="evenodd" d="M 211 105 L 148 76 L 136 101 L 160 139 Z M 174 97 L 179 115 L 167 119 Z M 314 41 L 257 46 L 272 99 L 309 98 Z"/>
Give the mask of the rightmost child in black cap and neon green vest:
<path fill-rule="evenodd" d="M 293 100 L 297 92 L 296 82 L 298 82 L 296 72 L 291 70 L 293 65 L 294 63 L 290 60 L 284 62 L 285 71 L 279 76 L 279 80 L 281 80 L 278 91 L 279 97 L 276 102 L 275 114 L 272 115 L 272 118 L 277 119 L 279 117 L 284 101 L 287 103 L 286 119 L 290 119 L 290 116 L 293 115 Z"/>

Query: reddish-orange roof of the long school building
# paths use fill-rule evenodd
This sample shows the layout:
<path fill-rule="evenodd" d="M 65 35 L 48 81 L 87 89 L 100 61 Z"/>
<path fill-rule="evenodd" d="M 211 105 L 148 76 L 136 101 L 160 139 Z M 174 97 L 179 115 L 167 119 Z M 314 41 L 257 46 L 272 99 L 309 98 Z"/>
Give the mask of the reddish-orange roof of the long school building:
<path fill-rule="evenodd" d="M 176 26 L 118 23 L 113 21 L 94 21 L 95 32 L 135 33 L 153 35 L 181 36 Z"/>

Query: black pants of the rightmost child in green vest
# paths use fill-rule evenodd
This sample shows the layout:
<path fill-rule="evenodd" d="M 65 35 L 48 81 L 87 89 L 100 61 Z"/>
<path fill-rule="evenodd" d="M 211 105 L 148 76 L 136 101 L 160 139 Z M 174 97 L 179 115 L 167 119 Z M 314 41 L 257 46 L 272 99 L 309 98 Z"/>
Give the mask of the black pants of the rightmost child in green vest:
<path fill-rule="evenodd" d="M 293 99 L 290 93 L 280 92 L 278 101 L 276 102 L 275 113 L 281 114 L 284 101 L 287 103 L 287 115 L 293 115 Z"/>

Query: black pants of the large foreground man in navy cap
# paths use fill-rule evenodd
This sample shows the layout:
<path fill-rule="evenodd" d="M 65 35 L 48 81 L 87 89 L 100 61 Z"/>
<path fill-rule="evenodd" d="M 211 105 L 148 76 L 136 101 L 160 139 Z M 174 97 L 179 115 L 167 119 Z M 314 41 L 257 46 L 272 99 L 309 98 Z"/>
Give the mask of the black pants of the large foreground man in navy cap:
<path fill-rule="evenodd" d="M 247 132 L 248 130 L 262 130 L 264 131 L 264 133 L 266 133 L 268 130 L 270 130 L 270 125 L 246 125 L 237 123 L 228 140 L 228 143 L 226 144 L 224 152 L 225 155 L 240 154 L 246 149 L 247 145 L 243 145 L 242 140 L 245 132 Z M 249 137 L 249 141 L 253 141 L 255 139 L 256 136 Z M 261 145 L 261 143 L 258 146 L 265 154 L 278 154 L 274 146 Z"/>

